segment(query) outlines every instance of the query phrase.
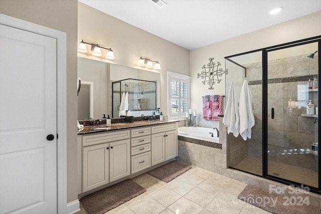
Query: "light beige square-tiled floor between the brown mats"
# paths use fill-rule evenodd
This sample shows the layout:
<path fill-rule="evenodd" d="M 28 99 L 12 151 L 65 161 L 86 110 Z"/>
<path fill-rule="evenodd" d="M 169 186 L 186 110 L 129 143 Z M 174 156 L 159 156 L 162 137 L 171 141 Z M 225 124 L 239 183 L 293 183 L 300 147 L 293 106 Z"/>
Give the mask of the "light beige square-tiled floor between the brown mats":
<path fill-rule="evenodd" d="M 237 199 L 247 184 L 196 166 L 169 183 L 147 173 L 133 180 L 144 187 L 146 192 L 109 210 L 107 214 L 269 213 Z M 77 214 L 85 213 L 81 205 L 81 211 Z"/>

